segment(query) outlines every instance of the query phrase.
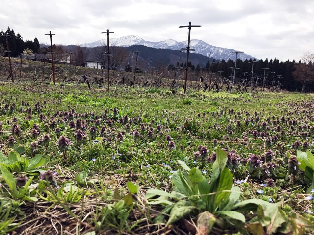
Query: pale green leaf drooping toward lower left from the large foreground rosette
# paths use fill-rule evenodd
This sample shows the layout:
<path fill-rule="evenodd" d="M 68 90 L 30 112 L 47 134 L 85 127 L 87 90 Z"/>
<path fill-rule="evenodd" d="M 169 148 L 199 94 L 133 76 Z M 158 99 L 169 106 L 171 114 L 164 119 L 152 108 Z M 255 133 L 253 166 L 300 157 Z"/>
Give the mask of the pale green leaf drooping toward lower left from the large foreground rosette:
<path fill-rule="evenodd" d="M 172 210 L 170 211 L 169 220 L 166 226 L 177 222 L 179 219 L 183 218 L 185 215 L 196 210 L 196 207 L 191 206 L 189 201 L 180 200 L 173 205 Z"/>

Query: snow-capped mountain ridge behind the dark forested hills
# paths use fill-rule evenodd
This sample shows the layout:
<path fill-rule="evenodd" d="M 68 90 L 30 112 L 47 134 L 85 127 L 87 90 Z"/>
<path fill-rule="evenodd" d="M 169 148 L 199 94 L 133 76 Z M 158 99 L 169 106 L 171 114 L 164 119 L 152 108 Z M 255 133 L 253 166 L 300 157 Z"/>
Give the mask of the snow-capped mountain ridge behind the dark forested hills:
<path fill-rule="evenodd" d="M 93 43 L 85 44 L 83 46 L 97 47 L 97 46 L 104 46 L 104 45 L 106 45 L 106 41 L 99 40 Z M 157 49 L 180 50 L 182 48 L 186 48 L 187 41 L 177 42 L 173 39 L 167 39 L 160 42 L 150 42 L 150 41 L 145 41 L 144 39 L 142 39 L 141 37 L 137 35 L 129 35 L 129 36 L 124 36 L 120 38 L 111 38 L 110 45 L 119 46 L 119 47 L 129 47 L 132 45 L 144 45 L 147 47 L 152 47 L 152 48 L 157 48 Z M 230 53 L 230 51 L 236 51 L 236 50 L 226 49 L 222 47 L 215 47 L 202 40 L 191 39 L 190 48 L 195 50 L 195 52 L 191 52 L 191 53 L 198 53 L 207 57 L 212 57 L 214 59 L 220 59 L 220 60 L 224 59 L 226 61 L 228 59 L 235 60 L 235 53 Z M 249 60 L 250 58 L 255 58 L 255 57 L 245 54 L 245 53 L 239 53 L 238 58 L 241 60 L 245 60 L 245 59 Z"/>

